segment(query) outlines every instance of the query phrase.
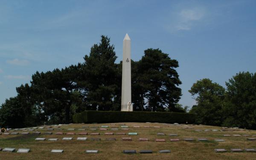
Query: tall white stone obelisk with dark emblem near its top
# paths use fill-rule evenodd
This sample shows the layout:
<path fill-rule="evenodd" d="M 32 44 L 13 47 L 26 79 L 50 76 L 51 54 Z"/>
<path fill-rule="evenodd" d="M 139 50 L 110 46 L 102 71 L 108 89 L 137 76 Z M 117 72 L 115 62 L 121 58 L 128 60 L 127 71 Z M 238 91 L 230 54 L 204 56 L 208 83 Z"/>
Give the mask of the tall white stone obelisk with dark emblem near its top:
<path fill-rule="evenodd" d="M 123 40 L 121 111 L 133 111 L 131 104 L 131 40 L 128 34 Z"/>

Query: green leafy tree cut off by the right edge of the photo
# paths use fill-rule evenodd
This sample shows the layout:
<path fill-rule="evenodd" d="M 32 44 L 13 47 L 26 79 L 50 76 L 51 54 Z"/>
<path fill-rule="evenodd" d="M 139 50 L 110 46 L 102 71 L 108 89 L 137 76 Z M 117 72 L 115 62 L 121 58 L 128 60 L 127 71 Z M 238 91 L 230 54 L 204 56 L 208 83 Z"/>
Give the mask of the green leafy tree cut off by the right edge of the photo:
<path fill-rule="evenodd" d="M 256 129 L 256 73 L 239 72 L 226 86 L 223 125 Z"/>

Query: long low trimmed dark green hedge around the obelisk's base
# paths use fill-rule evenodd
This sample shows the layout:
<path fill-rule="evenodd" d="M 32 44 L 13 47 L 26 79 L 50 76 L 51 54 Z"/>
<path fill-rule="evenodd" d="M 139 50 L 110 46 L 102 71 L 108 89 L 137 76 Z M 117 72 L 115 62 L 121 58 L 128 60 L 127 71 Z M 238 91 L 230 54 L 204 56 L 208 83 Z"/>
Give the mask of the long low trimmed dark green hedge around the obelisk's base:
<path fill-rule="evenodd" d="M 73 115 L 74 123 L 158 122 L 194 123 L 194 114 L 147 111 L 83 111 Z"/>

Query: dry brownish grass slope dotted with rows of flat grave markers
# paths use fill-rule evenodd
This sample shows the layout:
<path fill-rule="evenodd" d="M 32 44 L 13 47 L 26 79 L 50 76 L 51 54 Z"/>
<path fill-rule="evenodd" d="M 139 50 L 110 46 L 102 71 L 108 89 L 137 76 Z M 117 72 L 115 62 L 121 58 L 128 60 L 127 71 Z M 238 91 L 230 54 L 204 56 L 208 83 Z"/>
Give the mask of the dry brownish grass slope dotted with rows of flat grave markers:
<path fill-rule="evenodd" d="M 108 126 L 104 127 L 107 130 L 100 130 L 102 126 Z M 255 160 L 256 156 L 254 152 L 256 150 L 253 150 L 256 149 L 256 141 L 251 140 L 256 137 L 256 131 L 253 130 L 166 123 L 125 123 L 128 130 L 122 130 L 121 126 L 124 126 L 124 123 L 60 125 L 64 134 L 55 134 L 59 132 L 55 126 L 45 126 L 40 129 L 38 127 L 35 131 L 28 131 L 27 128 L 13 129 L 9 133 L 19 134 L 0 135 L 0 148 L 11 148 L 15 151 L 0 151 L 0 159 Z M 49 127 L 54 129 L 51 130 L 52 134 L 44 134 L 49 132 L 47 130 Z M 70 128 L 75 129 L 72 131 L 74 134 L 67 135 Z M 91 128 L 96 130 L 90 130 Z M 116 130 L 111 130 L 112 128 Z M 29 134 L 22 134 L 22 132 L 29 132 Z M 41 134 L 34 134 L 37 132 Z M 87 132 L 87 134 L 81 135 L 80 132 Z M 113 135 L 105 134 L 108 132 Z M 117 134 L 120 132 L 125 134 Z M 99 135 L 92 133 L 99 133 Z M 128 133 L 137 133 L 137 135 Z M 224 136 L 224 134 L 230 136 Z M 62 140 L 64 137 L 72 137 L 72 140 Z M 77 140 L 79 137 L 86 137 L 86 139 Z M 36 138 L 45 138 L 45 140 L 35 140 Z M 58 140 L 49 140 L 53 138 Z M 110 138 L 113 140 L 109 140 Z M 122 138 L 132 140 L 123 141 Z M 157 139 L 165 141 L 157 142 Z M 186 141 L 186 139 L 193 140 Z M 207 140 L 200 141 L 201 139 Z M 17 153 L 18 149 L 29 149 L 29 152 Z M 127 154 L 132 150 L 136 152 Z"/>

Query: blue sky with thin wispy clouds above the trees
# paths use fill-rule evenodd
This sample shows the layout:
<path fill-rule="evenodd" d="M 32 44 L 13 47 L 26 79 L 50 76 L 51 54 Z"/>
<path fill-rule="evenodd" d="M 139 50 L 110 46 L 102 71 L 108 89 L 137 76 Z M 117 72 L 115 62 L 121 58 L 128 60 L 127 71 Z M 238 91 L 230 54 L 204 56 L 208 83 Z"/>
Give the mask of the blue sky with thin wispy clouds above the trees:
<path fill-rule="evenodd" d="M 255 0 L 0 0 L 0 104 L 35 71 L 83 62 L 102 34 L 119 63 L 126 33 L 133 60 L 148 48 L 178 60 L 183 106 L 197 80 L 256 72 Z"/>

